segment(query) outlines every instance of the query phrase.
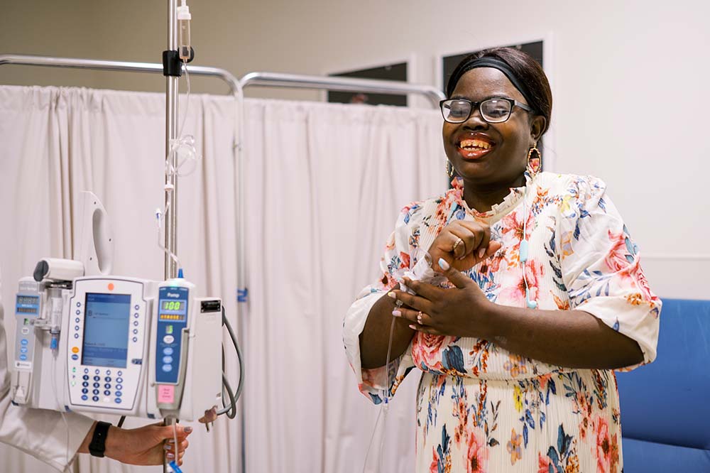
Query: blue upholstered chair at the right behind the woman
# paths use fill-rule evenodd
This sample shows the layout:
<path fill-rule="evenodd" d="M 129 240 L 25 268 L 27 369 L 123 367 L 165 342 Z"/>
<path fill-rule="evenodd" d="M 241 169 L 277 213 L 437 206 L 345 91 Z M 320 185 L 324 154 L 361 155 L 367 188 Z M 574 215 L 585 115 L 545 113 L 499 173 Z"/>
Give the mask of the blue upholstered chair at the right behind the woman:
<path fill-rule="evenodd" d="M 625 473 L 710 472 L 710 300 L 664 299 L 658 356 L 618 373 Z"/>

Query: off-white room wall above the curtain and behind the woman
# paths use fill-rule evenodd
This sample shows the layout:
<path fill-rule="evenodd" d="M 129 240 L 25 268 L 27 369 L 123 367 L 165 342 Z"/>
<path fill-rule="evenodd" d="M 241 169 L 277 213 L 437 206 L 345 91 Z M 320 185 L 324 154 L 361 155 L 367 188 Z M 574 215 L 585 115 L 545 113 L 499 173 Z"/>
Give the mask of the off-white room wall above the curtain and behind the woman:
<path fill-rule="evenodd" d="M 165 3 L 4 1 L 7 52 L 156 61 Z M 662 296 L 710 297 L 701 214 L 710 173 L 706 114 L 710 4 L 705 1 L 193 0 L 200 65 L 320 74 L 415 58 L 417 82 L 437 84 L 434 58 L 552 38 L 557 170 L 609 185 Z M 160 90 L 160 76 L 0 67 L 0 82 Z M 184 88 L 184 86 L 183 86 Z M 224 92 L 216 80 L 193 89 Z M 256 90 L 256 89 L 255 89 Z M 314 92 L 264 91 L 317 98 Z M 679 99 L 677 97 L 684 97 Z"/>

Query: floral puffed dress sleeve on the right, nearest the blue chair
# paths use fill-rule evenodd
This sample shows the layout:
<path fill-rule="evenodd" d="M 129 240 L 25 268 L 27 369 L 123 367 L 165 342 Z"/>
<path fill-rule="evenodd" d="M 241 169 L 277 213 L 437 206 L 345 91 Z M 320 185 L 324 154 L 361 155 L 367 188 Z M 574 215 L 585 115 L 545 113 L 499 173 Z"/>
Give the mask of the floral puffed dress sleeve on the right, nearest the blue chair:
<path fill-rule="evenodd" d="M 656 357 L 661 300 L 652 293 L 633 242 L 606 184 L 574 176 L 557 226 L 562 282 L 569 306 L 635 340 L 643 362 Z"/>

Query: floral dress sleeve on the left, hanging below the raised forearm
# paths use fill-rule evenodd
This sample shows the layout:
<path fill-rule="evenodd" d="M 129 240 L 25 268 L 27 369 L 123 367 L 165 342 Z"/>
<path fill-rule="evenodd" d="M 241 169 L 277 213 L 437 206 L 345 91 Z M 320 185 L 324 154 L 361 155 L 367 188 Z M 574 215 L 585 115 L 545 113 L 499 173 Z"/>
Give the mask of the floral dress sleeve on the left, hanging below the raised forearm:
<path fill-rule="evenodd" d="M 357 296 L 353 305 L 345 315 L 343 322 L 343 341 L 348 361 L 358 383 L 361 393 L 379 404 L 393 396 L 405 376 L 415 366 L 412 360 L 411 344 L 398 358 L 390 361 L 389 372 L 386 366 L 375 369 L 363 369 L 360 360 L 360 334 L 367 317 L 375 303 L 391 288 L 397 285 L 398 279 L 413 268 L 420 255 L 424 254 L 418 247 L 418 230 L 413 225 L 421 207 L 414 203 L 404 207 L 395 224 L 394 232 L 387 240 L 385 253 L 380 261 L 381 276 L 373 284 L 366 286 Z M 382 360 L 385 364 L 385 360 Z"/>

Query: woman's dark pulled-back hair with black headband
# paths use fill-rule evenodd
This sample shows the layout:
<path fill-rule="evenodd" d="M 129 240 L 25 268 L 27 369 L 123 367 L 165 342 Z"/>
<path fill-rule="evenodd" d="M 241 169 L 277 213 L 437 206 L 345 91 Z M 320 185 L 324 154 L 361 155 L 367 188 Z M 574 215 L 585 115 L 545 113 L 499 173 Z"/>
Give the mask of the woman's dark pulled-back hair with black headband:
<path fill-rule="evenodd" d="M 470 54 L 466 56 L 459 65 L 456 66 L 454 72 L 449 77 L 449 83 L 446 87 L 447 97 L 451 97 L 451 94 L 456 88 L 457 82 L 452 83 L 452 79 L 455 77 L 460 77 L 459 70 L 465 67 L 471 60 L 479 58 L 496 58 L 505 62 L 510 69 L 515 73 L 515 77 L 525 84 L 530 92 L 529 101 L 530 107 L 532 107 L 535 114 L 540 114 L 545 117 L 545 130 L 542 131 L 544 134 L 547 129 L 550 128 L 550 119 L 552 117 L 552 90 L 550 90 L 550 82 L 547 82 L 547 76 L 545 71 L 542 70 L 542 66 L 532 58 L 527 53 L 515 49 L 515 48 L 492 48 L 479 51 L 478 53 Z"/>

